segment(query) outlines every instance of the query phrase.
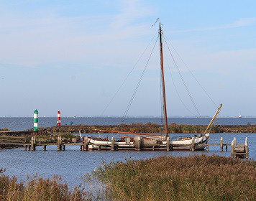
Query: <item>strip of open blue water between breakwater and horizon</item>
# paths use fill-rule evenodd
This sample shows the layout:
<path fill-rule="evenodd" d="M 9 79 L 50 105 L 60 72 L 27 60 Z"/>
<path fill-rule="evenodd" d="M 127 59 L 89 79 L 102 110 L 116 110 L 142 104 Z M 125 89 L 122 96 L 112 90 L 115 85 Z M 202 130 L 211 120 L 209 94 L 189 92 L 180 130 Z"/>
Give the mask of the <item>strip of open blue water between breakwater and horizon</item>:
<path fill-rule="evenodd" d="M 78 117 L 61 118 L 62 125 L 87 124 L 87 125 L 118 125 L 122 118 L 117 117 Z M 55 126 L 57 117 L 39 118 L 39 127 Z M 211 118 L 168 118 L 169 123 L 208 125 Z M 160 118 L 126 118 L 124 123 L 161 123 Z M 256 124 L 256 118 L 218 118 L 216 124 L 219 125 L 251 125 Z M 0 128 L 9 128 L 13 131 L 23 131 L 33 127 L 33 118 L 30 117 L 0 117 Z"/>

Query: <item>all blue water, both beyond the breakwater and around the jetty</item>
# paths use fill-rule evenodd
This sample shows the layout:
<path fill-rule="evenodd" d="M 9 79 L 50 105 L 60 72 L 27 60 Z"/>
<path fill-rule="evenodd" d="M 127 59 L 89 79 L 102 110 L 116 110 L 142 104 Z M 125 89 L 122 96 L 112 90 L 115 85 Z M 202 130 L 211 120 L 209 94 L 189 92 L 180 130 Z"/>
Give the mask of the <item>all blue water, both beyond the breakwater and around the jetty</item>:
<path fill-rule="evenodd" d="M 211 118 L 168 118 L 168 122 L 184 123 L 193 125 L 208 124 Z M 55 126 L 57 118 L 39 118 L 39 126 Z M 121 118 L 61 118 L 62 124 L 88 124 L 88 125 L 114 125 L 119 124 Z M 127 118 L 124 123 L 160 123 L 160 118 Z M 221 125 L 246 125 L 256 124 L 256 118 L 219 118 Z M 0 128 L 11 130 L 25 130 L 32 128 L 33 118 L 0 118 Z M 88 134 L 89 136 L 91 134 Z M 106 134 L 102 134 L 104 137 Z M 172 136 L 180 134 L 172 134 Z M 108 134 L 109 138 L 112 136 Z M 209 143 L 219 143 L 221 136 L 224 143 L 230 144 L 234 136 L 237 143 L 244 143 L 247 136 L 249 141 L 249 156 L 256 159 L 256 134 L 211 134 Z M 116 137 L 116 135 L 115 135 Z M 26 179 L 27 174 L 38 174 L 44 178 L 52 177 L 52 174 L 59 174 L 63 177 L 63 182 L 68 182 L 70 186 L 80 184 L 81 177 L 99 167 L 103 160 L 105 162 L 124 161 L 124 159 L 147 159 L 152 156 L 173 155 L 187 156 L 188 154 L 219 154 L 230 156 L 228 151 L 219 151 L 219 146 L 210 146 L 209 151 L 79 151 L 79 146 L 66 146 L 65 151 L 57 151 L 57 146 L 47 146 L 47 151 L 38 146 L 36 151 L 24 151 L 23 148 L 7 149 L 0 151 L 0 168 L 6 168 L 6 174 L 15 175 L 18 179 Z"/>

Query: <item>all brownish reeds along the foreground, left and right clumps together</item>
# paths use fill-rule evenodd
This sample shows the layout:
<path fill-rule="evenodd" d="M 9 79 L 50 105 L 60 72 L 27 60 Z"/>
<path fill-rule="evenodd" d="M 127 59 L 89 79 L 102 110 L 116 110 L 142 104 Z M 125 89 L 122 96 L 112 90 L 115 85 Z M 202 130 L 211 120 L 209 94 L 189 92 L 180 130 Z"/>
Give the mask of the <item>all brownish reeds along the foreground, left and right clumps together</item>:
<path fill-rule="evenodd" d="M 103 163 L 86 174 L 84 187 L 52 179 L 4 175 L 0 200 L 255 200 L 256 162 L 224 156 L 158 156 Z"/>

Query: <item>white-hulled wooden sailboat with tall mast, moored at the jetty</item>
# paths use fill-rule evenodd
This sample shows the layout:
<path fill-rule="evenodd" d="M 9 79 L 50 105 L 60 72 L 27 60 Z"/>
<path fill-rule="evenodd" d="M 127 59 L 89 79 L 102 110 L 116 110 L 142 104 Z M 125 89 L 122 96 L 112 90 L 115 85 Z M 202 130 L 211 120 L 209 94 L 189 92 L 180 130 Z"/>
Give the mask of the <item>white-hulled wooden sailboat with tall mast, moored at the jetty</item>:
<path fill-rule="evenodd" d="M 204 131 L 204 134 L 196 134 L 193 137 L 191 136 L 178 136 L 173 137 L 170 139 L 169 130 L 168 130 L 168 119 L 167 119 L 167 108 L 166 108 L 166 100 L 165 100 L 165 77 L 164 77 L 164 67 L 163 67 L 163 43 L 162 43 L 162 27 L 159 24 L 159 38 L 160 38 L 160 65 L 161 65 L 161 85 L 162 85 L 162 95 L 163 95 L 163 113 L 165 119 L 165 135 L 160 136 L 159 134 L 137 134 L 131 132 L 120 132 L 120 131 L 106 131 L 106 130 L 97 130 L 103 133 L 117 133 L 117 134 L 126 134 L 126 136 L 122 136 L 121 140 L 113 141 L 109 139 L 101 139 L 101 138 L 89 138 L 89 145 L 88 149 L 109 149 L 111 144 L 116 144 L 119 149 L 134 149 L 137 146 L 138 141 L 144 147 L 147 146 L 154 146 L 155 149 L 160 148 L 161 146 L 166 146 L 169 144 L 171 149 L 183 149 L 189 150 L 191 149 L 191 144 L 194 144 L 195 150 L 202 150 L 205 149 L 206 144 L 208 143 L 209 139 L 209 129 L 211 128 L 212 124 L 216 116 L 218 115 L 222 104 L 218 107 L 216 113 L 214 114 L 213 118 L 211 119 L 209 125 Z M 135 135 L 134 137 L 129 136 L 130 134 Z M 128 136 L 127 136 L 128 135 Z"/>

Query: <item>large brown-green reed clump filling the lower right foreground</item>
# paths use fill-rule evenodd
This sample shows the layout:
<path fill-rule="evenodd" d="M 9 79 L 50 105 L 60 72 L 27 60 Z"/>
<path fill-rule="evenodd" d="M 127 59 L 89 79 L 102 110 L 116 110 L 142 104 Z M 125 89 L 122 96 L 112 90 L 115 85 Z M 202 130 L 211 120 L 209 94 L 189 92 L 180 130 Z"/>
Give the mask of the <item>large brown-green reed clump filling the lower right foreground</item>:
<path fill-rule="evenodd" d="M 88 175 L 87 175 L 88 176 Z M 92 172 L 107 200 L 255 200 L 256 162 L 224 156 L 159 156 Z"/>

